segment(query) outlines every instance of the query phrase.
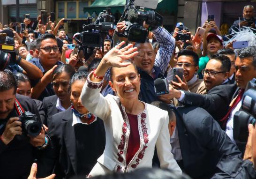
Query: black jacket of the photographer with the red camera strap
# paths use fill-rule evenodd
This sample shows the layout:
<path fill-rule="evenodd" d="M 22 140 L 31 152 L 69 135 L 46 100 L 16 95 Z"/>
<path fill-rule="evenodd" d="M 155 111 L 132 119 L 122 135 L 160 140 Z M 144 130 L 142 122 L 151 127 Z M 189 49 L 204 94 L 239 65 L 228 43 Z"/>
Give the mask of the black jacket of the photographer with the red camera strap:
<path fill-rule="evenodd" d="M 37 105 L 30 97 L 16 94 L 16 99 L 24 111 L 34 113 L 40 119 Z M 15 106 L 7 120 L 11 117 L 18 117 Z M 4 125 L 0 130 L 0 135 L 5 129 L 6 122 L 4 119 L 0 120 L 0 125 Z M 8 145 L 0 140 L 0 179 L 27 179 L 33 161 L 40 160 L 38 155 L 39 150 L 30 144 L 27 134 L 15 135 Z"/>

